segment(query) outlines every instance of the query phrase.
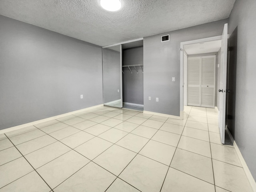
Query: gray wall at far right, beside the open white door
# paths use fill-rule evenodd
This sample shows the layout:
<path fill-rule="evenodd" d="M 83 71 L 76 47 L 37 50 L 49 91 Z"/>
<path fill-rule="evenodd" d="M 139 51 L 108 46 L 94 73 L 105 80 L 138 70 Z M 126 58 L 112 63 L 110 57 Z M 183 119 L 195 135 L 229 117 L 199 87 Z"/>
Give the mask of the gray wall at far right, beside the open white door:
<path fill-rule="evenodd" d="M 235 136 L 256 179 L 256 1 L 236 0 L 229 19 L 229 34 L 238 26 Z"/>

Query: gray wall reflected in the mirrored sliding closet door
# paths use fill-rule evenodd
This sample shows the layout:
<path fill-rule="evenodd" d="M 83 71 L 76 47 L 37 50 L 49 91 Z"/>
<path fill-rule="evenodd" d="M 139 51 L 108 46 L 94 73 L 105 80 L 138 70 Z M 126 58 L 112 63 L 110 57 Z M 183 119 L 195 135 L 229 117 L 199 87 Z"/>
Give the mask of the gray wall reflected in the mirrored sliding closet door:
<path fill-rule="evenodd" d="M 103 49 L 104 103 L 121 99 L 120 59 L 120 52 Z"/>

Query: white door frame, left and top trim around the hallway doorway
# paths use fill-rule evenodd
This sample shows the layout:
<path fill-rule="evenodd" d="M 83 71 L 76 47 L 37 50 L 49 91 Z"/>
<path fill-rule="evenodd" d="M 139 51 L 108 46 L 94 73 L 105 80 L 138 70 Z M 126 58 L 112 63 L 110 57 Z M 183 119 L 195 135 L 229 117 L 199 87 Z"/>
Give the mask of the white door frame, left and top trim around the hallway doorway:
<path fill-rule="evenodd" d="M 185 73 L 184 72 L 184 46 L 189 44 L 215 41 L 215 40 L 221 40 L 221 39 L 222 39 L 222 35 L 180 42 L 180 116 L 183 116 L 184 97 L 185 97 L 184 96 L 184 73 Z M 187 101 L 187 95 L 186 95 L 186 101 Z"/>

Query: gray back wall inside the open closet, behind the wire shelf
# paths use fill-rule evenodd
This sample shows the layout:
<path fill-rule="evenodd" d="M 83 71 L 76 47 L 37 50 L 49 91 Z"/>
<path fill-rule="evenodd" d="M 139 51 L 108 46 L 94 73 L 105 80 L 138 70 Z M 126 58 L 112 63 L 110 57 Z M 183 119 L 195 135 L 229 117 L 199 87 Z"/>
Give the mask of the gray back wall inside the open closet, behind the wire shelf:
<path fill-rule="evenodd" d="M 122 65 L 143 64 L 143 46 L 123 50 Z M 131 68 L 123 70 L 123 102 L 143 105 L 143 73 Z"/>

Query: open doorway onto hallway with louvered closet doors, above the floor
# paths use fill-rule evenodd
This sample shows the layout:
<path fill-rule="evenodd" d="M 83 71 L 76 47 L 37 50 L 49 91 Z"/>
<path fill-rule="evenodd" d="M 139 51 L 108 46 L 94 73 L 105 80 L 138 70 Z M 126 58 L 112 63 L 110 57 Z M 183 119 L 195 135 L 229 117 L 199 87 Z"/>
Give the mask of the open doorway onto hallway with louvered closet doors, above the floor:
<path fill-rule="evenodd" d="M 217 107 L 221 40 L 184 45 L 184 105 Z"/>

